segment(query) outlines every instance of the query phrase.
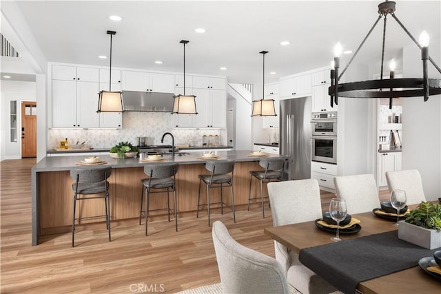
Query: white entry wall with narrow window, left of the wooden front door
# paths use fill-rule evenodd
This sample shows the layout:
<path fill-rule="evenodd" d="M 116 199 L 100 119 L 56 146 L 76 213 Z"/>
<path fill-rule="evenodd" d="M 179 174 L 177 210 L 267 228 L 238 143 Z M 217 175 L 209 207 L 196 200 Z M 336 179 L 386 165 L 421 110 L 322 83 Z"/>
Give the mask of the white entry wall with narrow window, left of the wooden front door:
<path fill-rule="evenodd" d="M 17 101 L 17 142 L 10 141 L 10 101 Z M 21 101 L 37 101 L 36 83 L 1 81 L 0 160 L 21 158 Z M 39 111 L 40 108 L 37 104 L 37 112 Z"/>

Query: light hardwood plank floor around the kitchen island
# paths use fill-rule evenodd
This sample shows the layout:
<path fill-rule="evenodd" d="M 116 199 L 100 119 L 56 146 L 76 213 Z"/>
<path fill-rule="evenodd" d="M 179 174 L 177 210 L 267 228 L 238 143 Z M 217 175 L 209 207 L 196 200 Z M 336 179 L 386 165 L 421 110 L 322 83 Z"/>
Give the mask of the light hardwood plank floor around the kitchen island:
<path fill-rule="evenodd" d="M 174 222 L 158 216 L 149 235 L 137 219 L 112 221 L 112 242 L 105 223 L 81 225 L 71 234 L 45 235 L 31 246 L 30 168 L 35 159 L 3 160 L 1 165 L 1 293 L 175 293 L 220 282 L 206 212 Z M 332 193 L 322 191 L 327 209 Z M 60 196 L 69 197 L 70 196 Z M 112 197 L 112 196 L 111 196 Z M 387 198 L 387 192 L 380 193 Z M 212 221 L 225 223 L 241 244 L 274 257 L 274 243 L 263 234 L 272 226 L 271 211 L 260 205 L 232 213 L 212 209 Z"/>

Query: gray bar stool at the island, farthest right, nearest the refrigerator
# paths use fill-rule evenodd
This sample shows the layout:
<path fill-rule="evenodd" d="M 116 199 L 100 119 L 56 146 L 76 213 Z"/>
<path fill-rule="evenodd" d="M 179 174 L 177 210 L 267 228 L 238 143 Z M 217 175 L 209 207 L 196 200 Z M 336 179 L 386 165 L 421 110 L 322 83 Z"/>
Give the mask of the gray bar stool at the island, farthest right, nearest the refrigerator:
<path fill-rule="evenodd" d="M 278 182 L 282 180 L 283 168 L 285 167 L 285 158 L 263 158 L 259 161 L 260 167 L 263 167 L 264 171 L 249 171 L 249 193 L 248 193 L 248 210 L 249 202 L 251 200 L 258 200 L 258 197 L 251 198 L 251 186 L 253 177 L 260 180 L 260 199 L 262 200 L 262 216 L 265 218 L 265 207 L 263 198 L 263 183 L 264 182 Z"/>

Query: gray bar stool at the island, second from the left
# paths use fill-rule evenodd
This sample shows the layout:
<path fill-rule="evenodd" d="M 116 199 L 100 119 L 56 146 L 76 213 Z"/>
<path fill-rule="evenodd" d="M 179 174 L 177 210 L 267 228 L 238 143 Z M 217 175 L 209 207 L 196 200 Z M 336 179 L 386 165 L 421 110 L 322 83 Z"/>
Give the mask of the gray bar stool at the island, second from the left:
<path fill-rule="evenodd" d="M 174 201 L 174 222 L 176 231 L 178 231 L 178 216 L 176 213 L 176 173 L 178 172 L 177 163 L 152 163 L 144 165 L 144 173 L 148 178 L 141 179 L 143 188 L 141 190 L 141 209 L 139 210 L 139 224 L 141 225 L 141 218 L 145 216 L 145 235 L 147 235 L 147 214 L 148 211 L 158 211 L 167 209 L 168 221 L 170 222 L 170 191 L 173 191 Z M 145 209 L 143 210 L 143 196 L 145 189 Z M 161 191 L 150 191 L 151 189 L 161 189 Z M 167 208 L 165 209 L 150 209 L 149 210 L 149 195 L 150 193 L 164 193 L 167 191 Z"/>

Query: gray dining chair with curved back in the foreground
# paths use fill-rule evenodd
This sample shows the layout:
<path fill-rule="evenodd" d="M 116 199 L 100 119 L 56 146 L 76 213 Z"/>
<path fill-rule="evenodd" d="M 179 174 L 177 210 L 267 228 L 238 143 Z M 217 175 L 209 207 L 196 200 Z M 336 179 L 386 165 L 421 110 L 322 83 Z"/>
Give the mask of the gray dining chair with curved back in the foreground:
<path fill-rule="evenodd" d="M 277 260 L 236 242 L 219 220 L 212 235 L 223 293 L 295 293 Z"/>

